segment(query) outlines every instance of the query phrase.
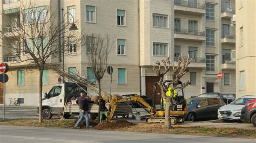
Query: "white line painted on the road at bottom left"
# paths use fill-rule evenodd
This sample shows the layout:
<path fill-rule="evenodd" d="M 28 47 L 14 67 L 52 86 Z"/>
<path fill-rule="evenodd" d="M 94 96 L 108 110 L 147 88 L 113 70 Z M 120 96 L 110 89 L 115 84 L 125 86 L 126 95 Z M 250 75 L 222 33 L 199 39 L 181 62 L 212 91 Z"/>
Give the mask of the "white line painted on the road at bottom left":
<path fill-rule="evenodd" d="M 17 138 L 17 139 L 31 139 L 31 140 L 45 140 L 45 141 L 58 141 L 58 142 L 95 142 L 95 141 L 84 141 L 84 140 L 36 138 L 36 137 L 26 137 L 26 136 L 16 136 L 16 135 L 3 135 L 3 134 L 0 134 L 0 137 Z"/>

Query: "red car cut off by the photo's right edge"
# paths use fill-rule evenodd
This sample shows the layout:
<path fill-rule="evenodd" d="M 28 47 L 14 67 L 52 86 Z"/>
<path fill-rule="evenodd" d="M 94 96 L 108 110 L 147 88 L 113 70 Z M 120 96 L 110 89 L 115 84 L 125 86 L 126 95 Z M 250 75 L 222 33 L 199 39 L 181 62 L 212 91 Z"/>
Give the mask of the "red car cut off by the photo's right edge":
<path fill-rule="evenodd" d="M 256 126 L 256 99 L 248 101 L 242 108 L 240 119 Z"/>

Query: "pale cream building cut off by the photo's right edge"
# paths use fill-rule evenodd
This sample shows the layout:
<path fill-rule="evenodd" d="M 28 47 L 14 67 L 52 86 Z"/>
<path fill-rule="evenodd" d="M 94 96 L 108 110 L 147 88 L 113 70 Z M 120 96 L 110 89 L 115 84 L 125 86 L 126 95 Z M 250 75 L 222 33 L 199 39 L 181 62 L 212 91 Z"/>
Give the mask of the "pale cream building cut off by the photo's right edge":
<path fill-rule="evenodd" d="M 256 1 L 235 4 L 237 96 L 256 95 Z"/>

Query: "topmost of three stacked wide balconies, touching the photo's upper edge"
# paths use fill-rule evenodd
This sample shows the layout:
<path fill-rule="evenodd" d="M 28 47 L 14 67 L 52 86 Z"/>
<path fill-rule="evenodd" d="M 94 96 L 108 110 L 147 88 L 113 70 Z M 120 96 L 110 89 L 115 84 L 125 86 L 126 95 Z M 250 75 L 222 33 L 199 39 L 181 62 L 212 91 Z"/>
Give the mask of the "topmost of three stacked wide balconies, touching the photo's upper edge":
<path fill-rule="evenodd" d="M 176 0 L 174 1 L 174 11 L 179 11 L 188 15 L 204 15 L 205 4 Z"/>

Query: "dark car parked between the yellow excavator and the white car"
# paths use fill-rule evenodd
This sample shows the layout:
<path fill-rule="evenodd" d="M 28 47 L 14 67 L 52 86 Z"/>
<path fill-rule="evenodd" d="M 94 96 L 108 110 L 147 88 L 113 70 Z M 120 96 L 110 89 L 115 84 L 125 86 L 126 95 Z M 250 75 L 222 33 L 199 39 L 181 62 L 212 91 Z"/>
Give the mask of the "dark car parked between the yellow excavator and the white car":
<path fill-rule="evenodd" d="M 194 97 L 187 99 L 186 120 L 218 116 L 218 109 L 225 105 L 219 97 Z"/>

